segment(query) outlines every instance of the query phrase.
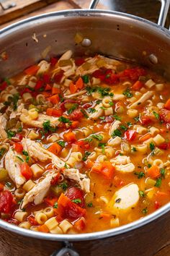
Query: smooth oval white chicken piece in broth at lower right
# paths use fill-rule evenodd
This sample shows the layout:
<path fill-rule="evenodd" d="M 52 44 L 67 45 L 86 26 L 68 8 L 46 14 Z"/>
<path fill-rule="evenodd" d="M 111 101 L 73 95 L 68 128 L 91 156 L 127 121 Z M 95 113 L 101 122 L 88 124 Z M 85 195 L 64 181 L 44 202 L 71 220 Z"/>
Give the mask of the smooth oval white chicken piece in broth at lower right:
<path fill-rule="evenodd" d="M 131 183 L 115 192 L 112 200 L 109 202 L 109 210 L 130 210 L 139 200 L 139 188 L 137 184 Z"/>

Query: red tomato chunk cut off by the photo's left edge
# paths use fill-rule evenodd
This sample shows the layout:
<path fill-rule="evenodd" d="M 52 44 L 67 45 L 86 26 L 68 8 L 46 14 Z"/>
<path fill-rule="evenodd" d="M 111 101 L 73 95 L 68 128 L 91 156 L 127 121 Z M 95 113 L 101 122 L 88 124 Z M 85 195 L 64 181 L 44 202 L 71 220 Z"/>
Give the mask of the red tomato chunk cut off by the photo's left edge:
<path fill-rule="evenodd" d="M 0 192 L 0 212 L 9 213 L 12 209 L 12 193 L 8 190 Z"/>

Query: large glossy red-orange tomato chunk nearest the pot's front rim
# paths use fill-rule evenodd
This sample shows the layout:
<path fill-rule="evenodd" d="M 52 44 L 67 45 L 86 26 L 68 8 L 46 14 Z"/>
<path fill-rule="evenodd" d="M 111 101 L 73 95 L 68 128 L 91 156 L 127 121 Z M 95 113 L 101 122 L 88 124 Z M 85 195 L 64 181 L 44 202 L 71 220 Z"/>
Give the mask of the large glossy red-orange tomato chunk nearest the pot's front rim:
<path fill-rule="evenodd" d="M 75 202 L 66 197 L 66 195 L 61 194 L 58 199 L 58 205 L 62 208 L 62 217 L 68 218 L 70 220 L 76 220 L 82 216 L 86 215 L 86 209 L 81 208 Z"/>

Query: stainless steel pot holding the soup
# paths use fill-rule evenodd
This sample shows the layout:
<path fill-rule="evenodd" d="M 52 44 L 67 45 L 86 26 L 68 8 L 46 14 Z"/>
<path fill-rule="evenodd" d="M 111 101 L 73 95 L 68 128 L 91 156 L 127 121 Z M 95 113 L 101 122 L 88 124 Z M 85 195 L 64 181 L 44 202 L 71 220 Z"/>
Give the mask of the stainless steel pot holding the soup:
<path fill-rule="evenodd" d="M 97 2 L 92 1 L 91 8 L 94 8 Z M 0 31 L 0 54 L 6 52 L 8 56 L 6 61 L 0 59 L 0 77 L 17 74 L 39 61 L 42 59 L 42 52 L 50 46 L 49 56 L 62 54 L 68 49 L 72 49 L 75 55 L 100 53 L 118 59 L 135 61 L 169 78 L 170 33 L 160 26 L 164 25 L 168 7 L 169 1 L 162 1 L 159 25 L 130 14 L 94 9 L 53 12 L 17 22 Z M 84 35 L 84 42 L 81 45 L 74 43 L 74 36 L 77 32 Z M 112 243 L 114 243 L 114 248 L 120 248 L 119 251 L 116 251 L 119 253 L 117 255 L 126 253 L 126 255 L 147 256 L 153 252 L 151 244 L 149 250 L 146 248 L 143 251 L 145 245 L 140 247 L 138 244 L 138 249 L 131 249 L 128 252 L 126 249 L 128 245 L 125 242 L 127 240 L 132 244 L 136 237 L 140 242 L 145 241 L 143 239 L 148 231 L 151 234 L 149 239 L 152 241 L 155 231 L 151 229 L 158 230 L 158 236 L 162 239 L 161 227 L 165 229 L 166 240 L 167 237 L 170 239 L 169 210 L 170 203 L 155 213 L 128 225 L 90 234 L 43 234 L 21 229 L 1 220 L 0 226 L 3 230 L 6 229 L 7 234 L 10 234 L 10 231 L 17 233 L 16 237 L 29 236 L 30 239 L 36 239 L 36 243 L 38 239 L 58 241 L 55 244 L 56 248 L 61 247 L 60 242 L 64 241 L 65 247 L 60 252 L 55 252 L 53 256 L 61 256 L 66 252 L 77 256 L 77 252 L 71 248 L 72 245 L 69 242 L 75 242 L 79 251 L 80 248 L 83 249 L 81 255 L 114 255 L 112 251 Z M 91 242 L 92 240 L 94 242 Z M 27 240 L 24 239 L 24 241 L 27 244 Z M 153 245 L 158 249 L 162 244 L 153 242 Z"/>

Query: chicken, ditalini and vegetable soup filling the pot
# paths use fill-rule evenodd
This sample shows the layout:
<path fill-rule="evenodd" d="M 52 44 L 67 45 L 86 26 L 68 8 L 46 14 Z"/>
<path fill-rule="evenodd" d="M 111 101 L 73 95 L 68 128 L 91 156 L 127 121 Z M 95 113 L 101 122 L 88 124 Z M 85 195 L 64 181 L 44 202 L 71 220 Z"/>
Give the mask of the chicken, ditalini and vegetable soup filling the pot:
<path fill-rule="evenodd" d="M 0 213 L 50 234 L 130 223 L 170 199 L 170 83 L 104 56 L 0 80 Z"/>

